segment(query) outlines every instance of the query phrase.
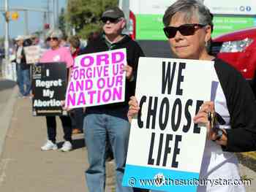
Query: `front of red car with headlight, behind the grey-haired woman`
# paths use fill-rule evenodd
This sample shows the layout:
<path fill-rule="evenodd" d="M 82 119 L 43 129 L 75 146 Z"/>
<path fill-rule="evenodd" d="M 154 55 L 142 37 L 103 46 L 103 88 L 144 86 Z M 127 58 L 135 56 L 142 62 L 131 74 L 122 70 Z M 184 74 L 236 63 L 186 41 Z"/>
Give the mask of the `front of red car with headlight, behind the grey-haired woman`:
<path fill-rule="evenodd" d="M 211 53 L 227 61 L 252 82 L 256 71 L 256 28 L 224 34 L 213 39 Z"/>

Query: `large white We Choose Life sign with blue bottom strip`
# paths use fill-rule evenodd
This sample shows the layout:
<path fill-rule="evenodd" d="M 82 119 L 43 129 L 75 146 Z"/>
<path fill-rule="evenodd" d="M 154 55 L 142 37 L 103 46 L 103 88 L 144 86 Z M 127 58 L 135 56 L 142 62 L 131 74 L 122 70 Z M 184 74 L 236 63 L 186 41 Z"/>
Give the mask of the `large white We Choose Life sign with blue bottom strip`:
<path fill-rule="evenodd" d="M 210 101 L 215 75 L 214 61 L 140 58 L 141 113 L 132 120 L 123 185 L 196 191 L 207 131 L 192 118 Z"/>

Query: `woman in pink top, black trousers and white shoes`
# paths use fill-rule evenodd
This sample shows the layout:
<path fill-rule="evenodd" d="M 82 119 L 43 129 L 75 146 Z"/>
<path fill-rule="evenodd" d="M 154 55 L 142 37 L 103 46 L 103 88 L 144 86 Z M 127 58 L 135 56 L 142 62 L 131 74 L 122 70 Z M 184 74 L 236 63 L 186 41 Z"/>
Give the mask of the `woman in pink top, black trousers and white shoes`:
<path fill-rule="evenodd" d="M 40 63 L 50 62 L 64 62 L 67 65 L 67 69 L 72 69 L 74 60 L 67 47 L 61 47 L 61 38 L 63 37 L 62 32 L 59 29 L 53 29 L 48 32 L 47 42 L 50 45 L 50 50 L 46 51 Z M 69 73 L 70 73 L 69 70 Z M 69 116 L 59 116 L 64 131 L 65 142 L 61 147 L 62 151 L 72 150 L 72 126 L 71 119 Z M 48 140 L 41 147 L 41 150 L 57 150 L 56 145 L 56 118 L 55 116 L 46 116 Z"/>

